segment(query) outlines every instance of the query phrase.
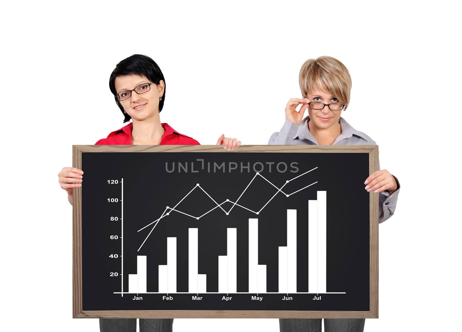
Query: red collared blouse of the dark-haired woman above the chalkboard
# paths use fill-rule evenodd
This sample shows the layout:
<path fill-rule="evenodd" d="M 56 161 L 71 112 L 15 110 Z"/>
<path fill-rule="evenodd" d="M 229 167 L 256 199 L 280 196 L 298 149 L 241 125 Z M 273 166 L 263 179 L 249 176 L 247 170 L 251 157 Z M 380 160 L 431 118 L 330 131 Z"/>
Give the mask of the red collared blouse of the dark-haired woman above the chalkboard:
<path fill-rule="evenodd" d="M 200 145 L 195 139 L 178 133 L 168 123 L 162 123 L 164 135 L 160 139 L 160 145 Z M 133 122 L 108 135 L 105 139 L 99 139 L 95 145 L 131 145 Z"/>

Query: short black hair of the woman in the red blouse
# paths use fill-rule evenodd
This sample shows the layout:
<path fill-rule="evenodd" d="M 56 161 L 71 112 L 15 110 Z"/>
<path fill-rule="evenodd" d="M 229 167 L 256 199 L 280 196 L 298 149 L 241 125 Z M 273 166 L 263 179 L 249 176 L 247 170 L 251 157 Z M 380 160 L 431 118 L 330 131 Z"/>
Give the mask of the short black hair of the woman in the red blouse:
<path fill-rule="evenodd" d="M 142 75 L 146 76 L 149 79 L 150 83 L 159 84 L 160 80 L 164 81 L 164 95 L 162 96 L 162 100 L 159 101 L 159 113 L 164 108 L 164 101 L 165 101 L 165 78 L 164 74 L 160 70 L 157 63 L 154 62 L 149 56 L 141 55 L 141 54 L 133 54 L 129 56 L 127 59 L 123 59 L 120 61 L 116 68 L 112 71 L 111 76 L 109 77 L 109 89 L 111 90 L 114 98 L 116 99 L 117 106 L 122 111 L 122 114 L 125 116 L 124 123 L 130 121 L 132 118 L 128 113 L 125 113 L 122 104 L 117 99 L 117 91 L 116 91 L 116 77 L 118 76 L 126 76 L 126 75 Z"/>

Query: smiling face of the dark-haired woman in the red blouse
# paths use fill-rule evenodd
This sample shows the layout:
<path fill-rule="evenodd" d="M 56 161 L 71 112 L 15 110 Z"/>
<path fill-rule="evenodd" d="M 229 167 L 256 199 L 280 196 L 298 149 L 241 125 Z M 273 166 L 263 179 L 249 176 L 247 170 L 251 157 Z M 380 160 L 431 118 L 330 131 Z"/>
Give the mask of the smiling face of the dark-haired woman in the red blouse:
<path fill-rule="evenodd" d="M 139 85 L 141 89 L 149 89 L 144 93 L 136 93 L 132 91 L 132 96 L 126 100 L 122 100 L 123 109 L 133 120 L 143 121 L 151 117 L 159 116 L 159 98 L 164 94 L 164 82 L 160 81 L 158 85 L 152 84 L 150 87 L 147 83 L 152 83 L 145 76 L 127 75 L 118 76 L 115 80 L 116 92 L 119 93 L 125 90 L 133 90 Z M 142 91 L 142 90 L 141 90 Z"/>

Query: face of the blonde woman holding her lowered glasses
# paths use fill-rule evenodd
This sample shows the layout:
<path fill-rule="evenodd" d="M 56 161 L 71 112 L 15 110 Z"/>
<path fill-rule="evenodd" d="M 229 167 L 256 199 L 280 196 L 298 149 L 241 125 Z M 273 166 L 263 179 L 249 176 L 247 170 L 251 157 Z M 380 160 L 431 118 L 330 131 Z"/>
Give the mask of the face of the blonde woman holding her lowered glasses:
<path fill-rule="evenodd" d="M 332 96 L 330 92 L 326 93 L 321 90 L 313 90 L 306 96 L 310 99 L 311 103 L 340 103 L 335 96 Z M 311 104 L 310 104 L 311 106 Z M 340 119 L 341 110 L 333 111 L 326 105 L 323 109 L 312 109 L 308 106 L 308 114 L 310 115 L 310 123 L 316 127 L 326 129 L 333 126 Z"/>

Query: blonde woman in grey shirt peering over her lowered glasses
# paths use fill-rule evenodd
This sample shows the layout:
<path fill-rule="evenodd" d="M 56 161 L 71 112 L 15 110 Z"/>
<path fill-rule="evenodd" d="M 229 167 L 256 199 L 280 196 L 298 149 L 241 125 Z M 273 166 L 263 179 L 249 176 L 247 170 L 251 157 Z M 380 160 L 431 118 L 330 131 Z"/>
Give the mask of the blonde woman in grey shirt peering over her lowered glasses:
<path fill-rule="evenodd" d="M 302 98 L 291 98 L 286 105 L 286 121 L 269 145 L 376 145 L 368 135 L 354 129 L 341 117 L 350 102 L 351 77 L 339 60 L 330 56 L 306 60 L 300 69 Z M 297 107 L 301 105 L 297 111 Z M 303 119 L 305 110 L 308 116 Z M 303 120 L 302 120 L 303 119 Z M 400 191 L 398 179 L 386 169 L 369 175 L 364 184 L 368 192 L 379 195 L 379 223 L 391 217 Z M 324 319 L 325 332 L 360 332 L 365 319 Z M 322 319 L 280 319 L 280 331 L 321 331 Z"/>

